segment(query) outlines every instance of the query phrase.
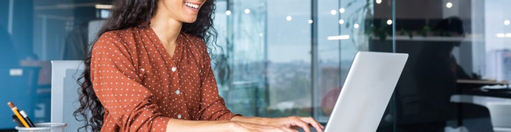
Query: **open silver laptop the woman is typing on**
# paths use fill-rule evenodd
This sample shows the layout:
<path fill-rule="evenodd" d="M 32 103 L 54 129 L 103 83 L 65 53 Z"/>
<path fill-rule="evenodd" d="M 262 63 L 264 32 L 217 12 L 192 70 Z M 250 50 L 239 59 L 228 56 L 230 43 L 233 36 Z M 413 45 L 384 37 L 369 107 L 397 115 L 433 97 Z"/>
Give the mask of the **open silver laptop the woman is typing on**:
<path fill-rule="evenodd" d="M 324 131 L 376 131 L 407 58 L 358 52 Z"/>

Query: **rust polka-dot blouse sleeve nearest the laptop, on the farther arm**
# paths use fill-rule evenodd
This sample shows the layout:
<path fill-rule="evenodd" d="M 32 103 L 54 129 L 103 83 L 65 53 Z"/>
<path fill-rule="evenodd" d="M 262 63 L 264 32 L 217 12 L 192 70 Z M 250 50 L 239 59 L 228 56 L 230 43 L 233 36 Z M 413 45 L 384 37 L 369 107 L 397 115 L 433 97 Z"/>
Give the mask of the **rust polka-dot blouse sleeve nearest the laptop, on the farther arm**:
<path fill-rule="evenodd" d="M 203 44 L 202 46 L 205 47 Z M 201 50 L 203 63 L 201 67 L 201 120 L 230 120 L 236 115 L 231 113 L 226 107 L 225 102 L 220 95 L 218 95 L 217 82 L 215 75 L 211 68 L 211 58 L 207 53 L 207 49 Z"/>

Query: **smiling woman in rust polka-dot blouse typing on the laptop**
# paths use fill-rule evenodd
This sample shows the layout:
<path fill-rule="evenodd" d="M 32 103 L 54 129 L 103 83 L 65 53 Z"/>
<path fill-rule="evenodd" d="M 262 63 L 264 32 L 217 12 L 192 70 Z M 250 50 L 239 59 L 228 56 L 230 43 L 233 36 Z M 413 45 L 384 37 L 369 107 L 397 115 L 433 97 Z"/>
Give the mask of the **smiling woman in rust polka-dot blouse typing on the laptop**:
<path fill-rule="evenodd" d="M 311 117 L 231 113 L 204 42 L 216 37 L 214 0 L 119 0 L 85 59 L 75 112 L 93 131 L 296 131 Z M 87 111 L 91 117 L 87 118 Z"/>

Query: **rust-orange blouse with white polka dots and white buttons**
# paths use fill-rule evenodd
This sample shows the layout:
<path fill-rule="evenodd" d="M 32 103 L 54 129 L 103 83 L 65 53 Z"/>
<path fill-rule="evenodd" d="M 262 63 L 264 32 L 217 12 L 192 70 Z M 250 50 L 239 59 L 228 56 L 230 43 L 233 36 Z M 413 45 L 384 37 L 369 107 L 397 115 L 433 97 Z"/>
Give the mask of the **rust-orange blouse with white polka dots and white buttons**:
<path fill-rule="evenodd" d="M 230 120 L 204 42 L 181 32 L 173 57 L 151 27 L 103 34 L 91 81 L 105 107 L 101 131 L 165 131 L 169 119 Z"/>

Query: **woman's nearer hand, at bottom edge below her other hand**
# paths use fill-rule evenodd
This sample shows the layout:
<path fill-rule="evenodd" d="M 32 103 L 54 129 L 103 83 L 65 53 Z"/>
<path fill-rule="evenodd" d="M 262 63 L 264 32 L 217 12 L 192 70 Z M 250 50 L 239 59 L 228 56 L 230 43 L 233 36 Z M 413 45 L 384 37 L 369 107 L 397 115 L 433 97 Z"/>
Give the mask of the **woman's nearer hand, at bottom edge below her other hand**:
<path fill-rule="evenodd" d="M 278 131 L 278 132 L 298 132 L 298 130 L 291 129 L 285 126 L 263 125 L 247 122 L 231 121 L 231 131 Z"/>

